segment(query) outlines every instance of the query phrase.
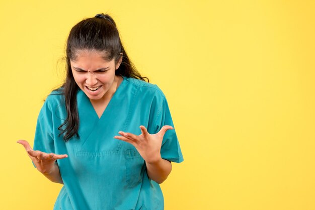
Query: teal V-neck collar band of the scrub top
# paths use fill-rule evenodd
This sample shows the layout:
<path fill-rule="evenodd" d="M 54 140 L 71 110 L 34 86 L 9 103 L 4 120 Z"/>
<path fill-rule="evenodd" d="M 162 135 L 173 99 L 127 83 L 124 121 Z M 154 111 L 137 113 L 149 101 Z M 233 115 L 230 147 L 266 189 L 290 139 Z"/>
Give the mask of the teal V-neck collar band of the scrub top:
<path fill-rule="evenodd" d="M 123 86 L 125 84 L 125 76 L 122 76 L 122 81 L 119 84 L 119 86 L 117 87 L 116 91 L 114 92 L 112 98 L 110 99 L 110 101 L 108 102 L 104 112 L 102 113 L 101 117 L 99 118 L 99 116 L 97 115 L 91 101 L 90 98 L 84 93 L 83 90 L 79 89 L 78 93 L 77 93 L 77 100 L 78 103 L 81 103 L 84 107 L 87 107 L 88 110 L 86 111 L 86 113 L 93 118 L 96 118 L 97 121 L 100 121 L 101 119 L 104 118 L 104 116 L 106 115 L 106 113 L 108 112 L 108 110 L 111 109 L 111 106 L 115 106 L 115 99 L 117 98 L 118 95 L 121 94 L 121 91 L 123 89 Z M 80 102 L 79 102 L 80 101 Z M 81 107 L 81 106 L 80 106 Z M 78 104 L 78 108 L 79 108 L 79 104 Z M 93 113 L 93 114 L 92 114 Z"/>

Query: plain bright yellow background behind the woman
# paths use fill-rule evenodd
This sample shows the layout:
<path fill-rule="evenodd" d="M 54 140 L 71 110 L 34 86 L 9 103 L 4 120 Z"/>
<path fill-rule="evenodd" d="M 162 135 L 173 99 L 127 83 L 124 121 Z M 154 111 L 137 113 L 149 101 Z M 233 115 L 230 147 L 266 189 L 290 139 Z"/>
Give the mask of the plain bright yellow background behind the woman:
<path fill-rule="evenodd" d="M 314 11 L 314 1 L 2 0 L 0 209 L 52 209 L 61 185 L 16 141 L 33 145 L 69 30 L 101 12 L 169 101 L 185 160 L 162 184 L 166 210 L 315 209 Z"/>

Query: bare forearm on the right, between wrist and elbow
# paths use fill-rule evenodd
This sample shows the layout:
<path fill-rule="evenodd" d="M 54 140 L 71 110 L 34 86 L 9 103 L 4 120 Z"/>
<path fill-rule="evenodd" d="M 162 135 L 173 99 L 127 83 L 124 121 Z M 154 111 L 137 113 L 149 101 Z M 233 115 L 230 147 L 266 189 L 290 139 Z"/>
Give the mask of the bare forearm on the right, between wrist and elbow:
<path fill-rule="evenodd" d="M 161 158 L 156 162 L 146 163 L 146 171 L 150 179 L 161 184 L 171 173 L 172 164 L 170 161 Z"/>

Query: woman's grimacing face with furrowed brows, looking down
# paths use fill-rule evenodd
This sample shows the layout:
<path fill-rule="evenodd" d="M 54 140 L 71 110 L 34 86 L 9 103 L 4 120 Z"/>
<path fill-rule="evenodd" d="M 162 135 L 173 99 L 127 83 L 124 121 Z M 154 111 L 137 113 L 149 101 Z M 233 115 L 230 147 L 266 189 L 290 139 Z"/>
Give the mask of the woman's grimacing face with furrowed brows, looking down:
<path fill-rule="evenodd" d="M 118 69 L 122 56 L 116 63 L 115 59 L 106 61 L 104 53 L 95 50 L 83 50 L 77 53 L 75 60 L 70 60 L 71 71 L 76 84 L 91 100 L 105 99 L 112 87 L 117 83 Z M 115 90 L 114 90 L 115 91 Z"/>

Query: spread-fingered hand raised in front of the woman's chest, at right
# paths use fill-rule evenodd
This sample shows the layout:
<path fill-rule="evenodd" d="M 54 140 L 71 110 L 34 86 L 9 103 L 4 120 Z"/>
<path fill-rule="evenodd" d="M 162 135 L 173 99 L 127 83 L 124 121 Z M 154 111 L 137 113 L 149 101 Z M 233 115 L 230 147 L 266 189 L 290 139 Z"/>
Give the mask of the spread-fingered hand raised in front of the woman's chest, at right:
<path fill-rule="evenodd" d="M 114 136 L 114 138 L 132 144 L 146 163 L 155 163 L 162 159 L 161 147 L 163 137 L 171 129 L 173 129 L 172 126 L 163 126 L 158 133 L 149 134 L 144 126 L 140 126 L 141 134 L 139 136 L 120 131 L 118 133 L 121 136 Z"/>

